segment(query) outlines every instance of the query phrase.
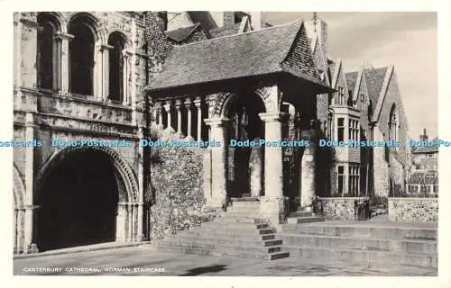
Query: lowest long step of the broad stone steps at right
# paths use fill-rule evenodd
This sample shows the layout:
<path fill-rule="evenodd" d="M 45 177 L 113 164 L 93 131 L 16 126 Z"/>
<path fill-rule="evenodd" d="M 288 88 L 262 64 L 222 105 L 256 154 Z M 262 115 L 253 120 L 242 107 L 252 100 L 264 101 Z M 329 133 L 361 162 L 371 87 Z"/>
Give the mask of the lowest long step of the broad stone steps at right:
<path fill-rule="evenodd" d="M 429 256 L 414 253 L 393 253 L 389 251 L 369 251 L 361 249 L 337 249 L 325 247 L 283 246 L 290 257 L 311 259 L 312 261 L 339 261 L 355 264 L 386 264 L 404 266 L 423 266 L 437 268 L 437 255 Z"/>

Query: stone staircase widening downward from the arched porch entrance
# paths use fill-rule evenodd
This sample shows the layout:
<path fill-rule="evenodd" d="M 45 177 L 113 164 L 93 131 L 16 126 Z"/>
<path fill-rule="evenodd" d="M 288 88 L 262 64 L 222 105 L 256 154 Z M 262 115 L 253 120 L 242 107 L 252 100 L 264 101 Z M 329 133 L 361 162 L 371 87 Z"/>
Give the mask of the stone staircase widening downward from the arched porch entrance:
<path fill-rule="evenodd" d="M 260 218 L 260 202 L 250 197 L 232 199 L 216 220 L 153 243 L 164 251 L 268 260 L 290 256 L 281 245 L 276 229 Z"/>

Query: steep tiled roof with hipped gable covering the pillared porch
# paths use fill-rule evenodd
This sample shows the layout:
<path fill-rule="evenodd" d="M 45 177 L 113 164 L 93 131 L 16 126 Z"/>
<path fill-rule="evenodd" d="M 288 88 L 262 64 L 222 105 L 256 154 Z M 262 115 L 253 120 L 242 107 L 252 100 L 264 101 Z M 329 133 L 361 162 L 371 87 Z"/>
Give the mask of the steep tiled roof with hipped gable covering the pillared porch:
<path fill-rule="evenodd" d="M 148 89 L 278 72 L 322 85 L 301 21 L 175 47 Z"/>

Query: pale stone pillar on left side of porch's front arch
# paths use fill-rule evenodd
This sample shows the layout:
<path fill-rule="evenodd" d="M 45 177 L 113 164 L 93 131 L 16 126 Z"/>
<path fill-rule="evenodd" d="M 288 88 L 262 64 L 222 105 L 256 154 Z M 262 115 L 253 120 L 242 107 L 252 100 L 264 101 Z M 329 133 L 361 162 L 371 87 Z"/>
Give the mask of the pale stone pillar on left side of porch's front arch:
<path fill-rule="evenodd" d="M 226 205 L 227 195 L 227 149 L 226 118 L 210 118 L 205 122 L 210 126 L 210 140 L 221 143 L 219 147 L 208 147 L 211 151 L 211 195 L 206 195 L 207 205 L 214 208 Z"/>

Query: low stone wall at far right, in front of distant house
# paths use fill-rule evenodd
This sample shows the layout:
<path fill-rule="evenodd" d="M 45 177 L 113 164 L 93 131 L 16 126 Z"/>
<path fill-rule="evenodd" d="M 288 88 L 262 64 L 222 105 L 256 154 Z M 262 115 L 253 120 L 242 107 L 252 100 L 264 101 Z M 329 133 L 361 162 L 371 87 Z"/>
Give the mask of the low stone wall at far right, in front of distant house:
<path fill-rule="evenodd" d="M 438 198 L 389 198 L 389 220 L 437 222 Z"/>

